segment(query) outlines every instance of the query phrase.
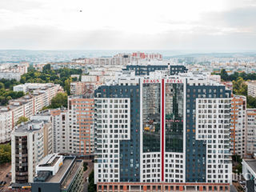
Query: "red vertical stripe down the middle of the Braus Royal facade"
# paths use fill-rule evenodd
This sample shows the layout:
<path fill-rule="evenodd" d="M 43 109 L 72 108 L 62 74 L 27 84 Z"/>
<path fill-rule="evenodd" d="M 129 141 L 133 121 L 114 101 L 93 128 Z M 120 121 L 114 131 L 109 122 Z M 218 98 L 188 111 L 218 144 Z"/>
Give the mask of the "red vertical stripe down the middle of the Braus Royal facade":
<path fill-rule="evenodd" d="M 162 182 L 164 181 L 164 170 L 165 170 L 165 80 L 162 79 L 162 136 L 161 136 L 161 141 L 162 141 Z"/>

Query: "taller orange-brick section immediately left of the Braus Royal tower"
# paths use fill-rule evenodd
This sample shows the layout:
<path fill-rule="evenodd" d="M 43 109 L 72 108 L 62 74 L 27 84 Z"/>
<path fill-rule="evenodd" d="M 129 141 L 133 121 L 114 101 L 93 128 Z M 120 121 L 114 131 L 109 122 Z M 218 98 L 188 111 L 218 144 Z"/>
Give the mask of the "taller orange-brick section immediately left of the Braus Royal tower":
<path fill-rule="evenodd" d="M 70 138 L 68 149 L 73 154 L 94 153 L 94 94 L 68 98 Z"/>

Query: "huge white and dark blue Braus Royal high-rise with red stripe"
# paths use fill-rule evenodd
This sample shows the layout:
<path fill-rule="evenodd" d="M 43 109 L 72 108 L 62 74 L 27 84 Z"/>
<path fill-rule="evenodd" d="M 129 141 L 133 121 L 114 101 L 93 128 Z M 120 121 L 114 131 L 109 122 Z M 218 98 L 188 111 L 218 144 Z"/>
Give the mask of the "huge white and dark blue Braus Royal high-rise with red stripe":
<path fill-rule="evenodd" d="M 94 95 L 94 181 L 103 189 L 109 182 L 200 182 L 228 190 L 231 93 L 225 86 L 203 74 L 150 73 L 122 77 Z"/>

